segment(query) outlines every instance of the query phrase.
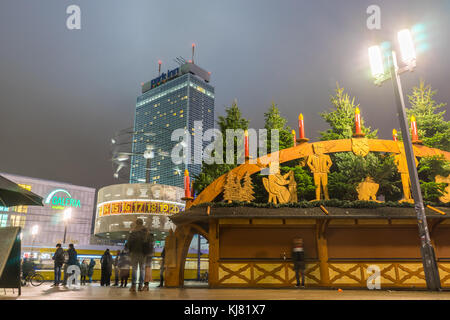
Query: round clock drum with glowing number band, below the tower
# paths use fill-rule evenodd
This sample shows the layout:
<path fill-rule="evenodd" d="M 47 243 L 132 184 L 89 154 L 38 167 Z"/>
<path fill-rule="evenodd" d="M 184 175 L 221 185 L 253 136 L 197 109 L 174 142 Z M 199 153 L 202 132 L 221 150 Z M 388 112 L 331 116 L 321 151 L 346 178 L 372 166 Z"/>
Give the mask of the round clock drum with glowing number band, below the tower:
<path fill-rule="evenodd" d="M 175 225 L 169 217 L 184 211 L 182 188 L 161 184 L 116 184 L 101 188 L 97 197 L 94 234 L 111 240 L 125 239 L 137 218 L 155 234 L 165 238 Z"/>

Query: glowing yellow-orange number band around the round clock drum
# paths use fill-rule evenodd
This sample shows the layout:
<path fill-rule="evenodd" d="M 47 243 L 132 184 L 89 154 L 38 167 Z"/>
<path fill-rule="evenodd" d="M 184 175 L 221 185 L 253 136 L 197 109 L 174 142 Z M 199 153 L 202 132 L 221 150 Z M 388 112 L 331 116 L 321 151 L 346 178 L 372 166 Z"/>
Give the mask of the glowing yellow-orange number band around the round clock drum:
<path fill-rule="evenodd" d="M 99 217 L 133 213 L 172 215 L 184 210 L 184 205 L 166 201 L 128 200 L 101 203 L 97 208 Z"/>

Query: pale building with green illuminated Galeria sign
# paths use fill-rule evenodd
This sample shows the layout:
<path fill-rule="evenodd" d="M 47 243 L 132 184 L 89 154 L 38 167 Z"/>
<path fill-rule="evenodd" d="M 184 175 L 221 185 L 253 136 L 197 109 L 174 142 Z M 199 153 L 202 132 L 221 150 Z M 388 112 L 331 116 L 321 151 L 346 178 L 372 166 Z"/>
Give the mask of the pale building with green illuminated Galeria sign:
<path fill-rule="evenodd" d="M 94 216 L 95 189 L 73 184 L 0 173 L 22 188 L 41 196 L 44 206 L 0 207 L 0 227 L 22 227 L 22 246 L 54 247 L 63 243 L 64 211 L 71 208 L 67 220 L 66 245 L 89 245 Z M 33 226 L 38 227 L 34 237 Z"/>

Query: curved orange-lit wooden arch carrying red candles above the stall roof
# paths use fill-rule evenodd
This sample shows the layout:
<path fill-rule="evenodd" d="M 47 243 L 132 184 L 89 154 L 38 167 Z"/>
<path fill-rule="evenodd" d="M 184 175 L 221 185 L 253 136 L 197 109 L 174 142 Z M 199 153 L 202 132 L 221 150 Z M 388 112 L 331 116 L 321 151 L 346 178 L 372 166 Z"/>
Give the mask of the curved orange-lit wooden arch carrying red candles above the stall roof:
<path fill-rule="evenodd" d="M 291 160 L 301 159 L 309 155 L 314 154 L 313 145 L 320 145 L 323 148 L 323 153 L 338 153 L 338 152 L 353 152 L 355 147 L 355 141 L 367 142 L 369 152 L 386 152 L 386 153 L 400 153 L 399 146 L 403 145 L 402 142 L 396 142 L 393 140 L 381 140 L 381 139 L 342 139 L 342 140 L 328 140 L 318 141 L 314 143 L 301 143 L 295 147 L 287 148 L 278 151 L 279 162 L 288 162 Z M 414 145 L 414 154 L 416 157 L 426 157 L 443 155 L 445 159 L 450 161 L 450 152 L 429 148 L 423 145 Z M 261 169 L 266 168 L 268 160 L 271 158 L 271 154 L 260 157 L 255 164 L 244 163 L 230 172 L 233 172 L 237 177 L 242 178 L 245 173 L 249 172 L 254 174 Z M 213 183 L 206 187 L 197 198 L 186 204 L 186 209 L 192 206 L 199 205 L 205 202 L 212 202 L 214 199 L 224 190 L 226 174 L 223 174 L 217 178 Z"/>

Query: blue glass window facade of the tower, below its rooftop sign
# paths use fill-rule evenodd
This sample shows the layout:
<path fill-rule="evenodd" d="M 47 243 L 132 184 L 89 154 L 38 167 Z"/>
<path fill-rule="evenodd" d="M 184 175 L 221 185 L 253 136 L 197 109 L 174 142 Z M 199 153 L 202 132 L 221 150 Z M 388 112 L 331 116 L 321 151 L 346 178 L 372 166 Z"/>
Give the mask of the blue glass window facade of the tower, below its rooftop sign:
<path fill-rule="evenodd" d="M 180 81 L 186 81 L 181 82 Z M 189 86 L 188 86 L 189 83 Z M 189 87 L 189 92 L 187 88 Z M 204 89 L 207 88 L 207 89 Z M 162 91 L 165 89 L 166 91 Z M 157 92 L 153 92 L 157 90 Z M 170 152 L 176 142 L 171 141 L 170 134 L 172 130 L 177 128 L 187 128 L 190 132 L 194 127 L 194 121 L 202 121 L 203 130 L 214 127 L 214 88 L 207 85 L 203 80 L 196 76 L 187 74 L 175 80 L 165 83 L 146 92 L 138 98 L 140 104 L 136 109 L 135 116 L 135 135 L 133 139 L 133 153 L 142 154 L 147 144 L 154 146 L 155 158 L 151 159 L 150 168 L 157 170 L 150 171 L 150 183 L 159 183 L 184 187 L 184 169 L 188 169 L 190 176 L 194 177 L 201 171 L 201 165 L 184 164 L 176 166 L 172 163 Z M 150 100 L 150 97 L 158 97 Z M 186 99 L 189 97 L 189 99 Z M 173 103 L 176 101 L 175 103 Z M 151 102 L 151 103 L 150 103 Z M 155 108 L 155 105 L 157 106 Z M 176 115 L 174 115 L 176 111 Z M 186 116 L 184 116 L 186 114 Z M 150 125 L 151 123 L 151 125 Z M 167 124 L 171 130 L 163 130 L 167 128 Z M 155 139 L 154 137 L 146 137 L 145 132 L 153 131 L 157 136 L 163 139 Z M 164 133 L 167 133 L 164 134 Z M 203 148 L 209 142 L 203 142 Z M 169 153 L 169 156 L 158 155 L 158 150 Z M 194 151 L 194 139 L 191 140 L 191 150 Z M 197 150 L 201 152 L 202 150 Z M 132 156 L 130 183 L 139 183 L 146 180 L 146 164 L 147 161 L 143 155 Z M 179 169 L 177 174 L 176 168 Z"/>

